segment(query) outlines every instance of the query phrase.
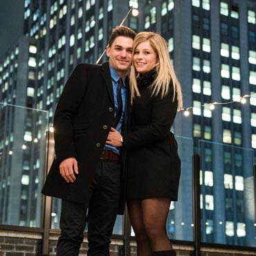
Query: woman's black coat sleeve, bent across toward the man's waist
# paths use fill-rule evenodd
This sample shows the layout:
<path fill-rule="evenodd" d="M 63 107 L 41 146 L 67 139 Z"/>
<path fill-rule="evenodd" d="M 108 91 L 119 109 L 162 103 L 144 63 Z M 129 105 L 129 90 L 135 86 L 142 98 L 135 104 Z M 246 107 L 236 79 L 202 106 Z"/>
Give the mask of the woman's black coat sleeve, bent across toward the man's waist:
<path fill-rule="evenodd" d="M 177 100 L 173 101 L 173 93 L 165 98 L 158 95 L 152 99 L 152 120 L 148 125 L 140 126 L 135 131 L 122 136 L 123 147 L 136 148 L 156 143 L 170 134 L 172 122 L 176 116 Z"/>

